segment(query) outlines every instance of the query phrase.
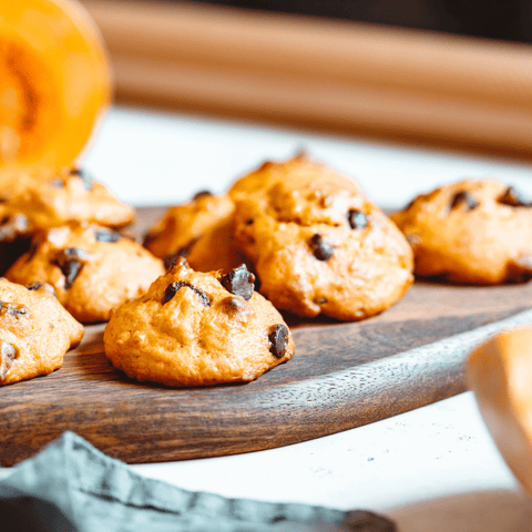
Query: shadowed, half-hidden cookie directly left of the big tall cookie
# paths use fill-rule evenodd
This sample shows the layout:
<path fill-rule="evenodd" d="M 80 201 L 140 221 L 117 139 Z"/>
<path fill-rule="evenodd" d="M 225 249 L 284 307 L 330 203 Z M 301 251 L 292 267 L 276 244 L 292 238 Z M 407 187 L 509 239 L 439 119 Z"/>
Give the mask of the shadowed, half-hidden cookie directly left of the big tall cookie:
<path fill-rule="evenodd" d="M 203 191 L 171 207 L 149 231 L 144 246 L 170 266 L 184 256 L 193 269 L 228 272 L 245 260 L 233 245 L 234 204 L 227 194 Z"/>

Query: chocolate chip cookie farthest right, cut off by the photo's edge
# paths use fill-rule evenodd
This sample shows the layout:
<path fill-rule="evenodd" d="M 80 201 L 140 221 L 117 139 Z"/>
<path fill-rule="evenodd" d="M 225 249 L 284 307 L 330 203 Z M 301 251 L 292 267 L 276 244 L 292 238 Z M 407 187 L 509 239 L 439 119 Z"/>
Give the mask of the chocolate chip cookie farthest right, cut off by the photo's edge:
<path fill-rule="evenodd" d="M 446 184 L 392 216 L 416 275 L 497 285 L 532 277 L 532 204 L 497 180 Z"/>

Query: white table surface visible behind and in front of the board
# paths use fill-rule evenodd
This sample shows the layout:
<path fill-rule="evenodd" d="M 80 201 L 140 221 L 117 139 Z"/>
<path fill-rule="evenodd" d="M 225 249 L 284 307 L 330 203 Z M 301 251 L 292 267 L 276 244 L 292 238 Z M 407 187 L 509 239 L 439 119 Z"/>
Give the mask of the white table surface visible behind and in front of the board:
<path fill-rule="evenodd" d="M 494 176 L 532 197 L 532 165 L 178 114 L 114 109 L 84 166 L 122 200 L 167 205 L 222 192 L 299 149 L 354 176 L 380 206 L 464 177 Z M 532 530 L 532 505 L 499 454 L 471 392 L 295 446 L 132 466 L 191 489 L 267 501 L 365 509 L 402 532 Z"/>

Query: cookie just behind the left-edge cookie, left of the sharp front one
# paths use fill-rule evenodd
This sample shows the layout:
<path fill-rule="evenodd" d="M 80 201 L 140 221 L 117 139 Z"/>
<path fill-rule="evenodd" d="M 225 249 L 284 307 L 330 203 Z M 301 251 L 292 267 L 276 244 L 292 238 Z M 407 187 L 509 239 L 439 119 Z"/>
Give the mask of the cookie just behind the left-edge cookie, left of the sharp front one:
<path fill-rule="evenodd" d="M 6 273 L 12 282 L 49 283 L 82 323 L 104 321 L 111 309 L 143 294 L 164 273 L 161 259 L 113 229 L 62 226 L 39 235 Z"/>

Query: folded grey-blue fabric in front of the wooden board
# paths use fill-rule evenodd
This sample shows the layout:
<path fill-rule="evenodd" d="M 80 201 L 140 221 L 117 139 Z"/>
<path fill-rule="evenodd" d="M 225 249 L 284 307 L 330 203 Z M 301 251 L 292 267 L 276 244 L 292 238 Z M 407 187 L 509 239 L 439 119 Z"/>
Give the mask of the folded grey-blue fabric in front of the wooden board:
<path fill-rule="evenodd" d="M 64 432 L 0 480 L 0 529 L 34 532 L 393 532 L 366 511 L 227 499 L 146 479 Z"/>

